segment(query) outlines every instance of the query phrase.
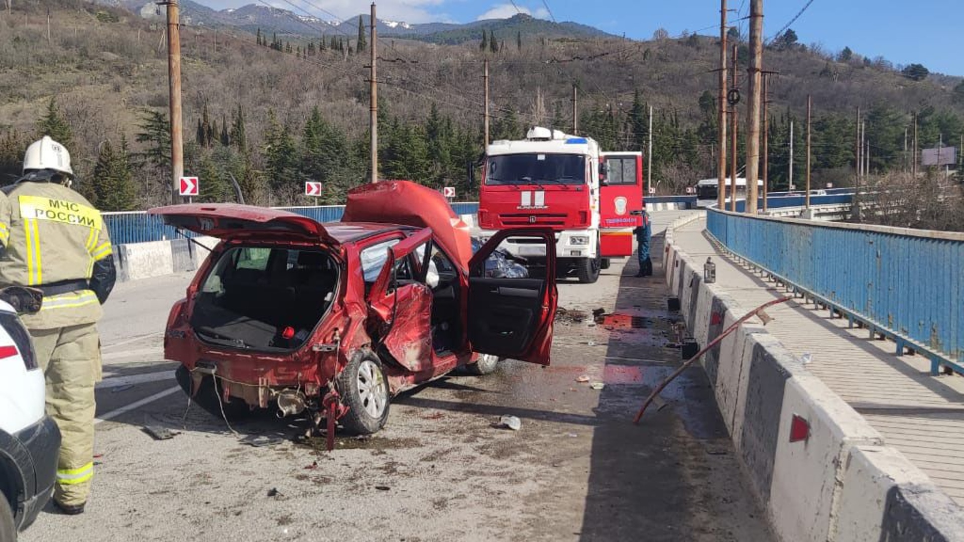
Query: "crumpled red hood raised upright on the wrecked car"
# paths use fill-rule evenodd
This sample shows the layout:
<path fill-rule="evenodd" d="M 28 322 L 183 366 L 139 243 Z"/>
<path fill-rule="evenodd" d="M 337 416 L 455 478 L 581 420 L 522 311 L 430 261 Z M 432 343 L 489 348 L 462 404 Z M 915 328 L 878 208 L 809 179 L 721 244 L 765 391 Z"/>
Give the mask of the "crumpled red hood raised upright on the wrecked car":
<path fill-rule="evenodd" d="M 431 228 L 442 249 L 469 269 L 469 226 L 436 190 L 409 180 L 384 180 L 348 192 L 342 222 L 386 222 Z"/>

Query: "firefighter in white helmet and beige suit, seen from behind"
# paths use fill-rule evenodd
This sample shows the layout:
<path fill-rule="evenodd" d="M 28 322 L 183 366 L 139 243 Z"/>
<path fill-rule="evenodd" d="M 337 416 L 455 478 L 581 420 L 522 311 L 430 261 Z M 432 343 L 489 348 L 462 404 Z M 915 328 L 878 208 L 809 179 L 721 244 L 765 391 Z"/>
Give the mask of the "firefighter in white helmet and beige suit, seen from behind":
<path fill-rule="evenodd" d="M 21 319 L 46 376 L 47 414 L 63 437 L 54 502 L 79 514 L 94 476 L 96 322 L 116 271 L 100 212 L 70 189 L 72 178 L 63 146 L 44 136 L 27 148 L 23 176 L 0 197 L 0 285 L 43 291 L 40 312 Z"/>

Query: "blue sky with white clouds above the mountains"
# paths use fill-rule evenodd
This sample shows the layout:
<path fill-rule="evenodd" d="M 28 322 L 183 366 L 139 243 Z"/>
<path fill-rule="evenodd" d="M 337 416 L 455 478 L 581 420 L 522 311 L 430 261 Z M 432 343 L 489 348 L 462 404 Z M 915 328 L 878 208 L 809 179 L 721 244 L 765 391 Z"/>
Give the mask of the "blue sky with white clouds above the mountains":
<path fill-rule="evenodd" d="M 216 9 L 267 2 L 296 11 L 293 4 L 326 19 L 368 13 L 368 0 L 197 0 Z M 749 0 L 729 0 L 730 8 L 749 11 Z M 807 0 L 764 2 L 763 33 L 769 37 L 787 24 Z M 406 22 L 469 22 L 505 17 L 518 10 L 558 21 L 572 20 L 633 39 L 649 39 L 658 28 L 677 36 L 683 31 L 713 34 L 719 24 L 719 0 L 379 0 L 378 16 Z M 324 10 L 324 12 L 319 11 Z M 328 13 L 325 13 L 328 12 Z M 732 14 L 731 20 L 736 20 Z M 813 0 L 791 28 L 801 42 L 818 43 L 829 51 L 849 46 L 895 65 L 920 63 L 931 71 L 964 75 L 964 55 L 959 52 L 959 25 L 964 21 L 961 0 Z M 748 32 L 747 21 L 738 21 Z"/>

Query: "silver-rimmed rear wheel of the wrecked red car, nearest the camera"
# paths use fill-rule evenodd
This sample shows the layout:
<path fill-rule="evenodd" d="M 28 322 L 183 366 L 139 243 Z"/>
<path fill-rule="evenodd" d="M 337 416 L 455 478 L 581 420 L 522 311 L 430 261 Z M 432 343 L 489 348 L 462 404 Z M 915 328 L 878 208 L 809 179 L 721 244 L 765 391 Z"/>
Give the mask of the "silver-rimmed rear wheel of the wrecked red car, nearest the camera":
<path fill-rule="evenodd" d="M 354 435 L 378 432 L 388 420 L 388 379 L 382 363 L 371 352 L 359 352 L 336 379 L 348 412 L 341 418 L 345 431 Z"/>

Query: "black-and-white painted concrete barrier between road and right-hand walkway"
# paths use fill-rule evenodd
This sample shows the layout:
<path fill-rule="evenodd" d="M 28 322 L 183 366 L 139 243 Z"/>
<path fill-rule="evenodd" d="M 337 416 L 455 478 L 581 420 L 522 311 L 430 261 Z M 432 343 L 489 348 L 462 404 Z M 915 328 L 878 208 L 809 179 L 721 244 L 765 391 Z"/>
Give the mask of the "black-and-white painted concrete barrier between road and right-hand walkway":
<path fill-rule="evenodd" d="M 751 308 L 703 282 L 666 230 L 666 283 L 701 345 Z M 752 319 L 703 360 L 750 485 L 787 542 L 964 541 L 964 510 Z M 809 436 L 790 442 L 794 417 Z"/>

